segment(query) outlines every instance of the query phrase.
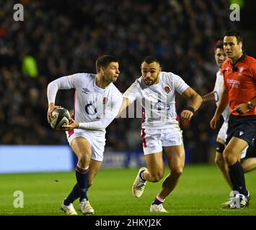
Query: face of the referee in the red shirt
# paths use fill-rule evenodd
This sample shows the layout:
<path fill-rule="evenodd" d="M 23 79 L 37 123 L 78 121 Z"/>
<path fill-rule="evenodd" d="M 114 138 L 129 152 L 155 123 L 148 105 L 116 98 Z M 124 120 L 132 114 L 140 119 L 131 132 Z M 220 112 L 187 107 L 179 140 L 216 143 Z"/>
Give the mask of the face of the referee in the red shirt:
<path fill-rule="evenodd" d="M 225 36 L 224 37 L 224 51 L 226 57 L 231 59 L 238 59 L 239 55 L 242 52 L 242 42 L 237 42 L 237 37 L 235 36 Z"/>

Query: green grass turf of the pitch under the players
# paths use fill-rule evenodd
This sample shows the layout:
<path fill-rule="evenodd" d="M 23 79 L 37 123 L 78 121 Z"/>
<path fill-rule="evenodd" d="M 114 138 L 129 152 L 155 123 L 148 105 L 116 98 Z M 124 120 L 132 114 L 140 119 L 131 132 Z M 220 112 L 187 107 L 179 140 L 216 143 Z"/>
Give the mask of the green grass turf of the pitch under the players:
<path fill-rule="evenodd" d="M 88 192 L 95 215 L 156 216 L 149 213 L 149 206 L 163 180 L 147 183 L 144 195 L 133 198 L 131 185 L 137 172 L 138 169 L 100 170 Z M 252 196 L 250 207 L 220 209 L 220 203 L 229 196 L 229 187 L 221 172 L 214 165 L 186 165 L 180 183 L 164 203 L 169 213 L 158 215 L 255 215 L 255 178 L 256 171 L 246 174 Z M 64 215 L 60 206 L 74 183 L 74 172 L 0 175 L 0 215 Z M 24 208 L 14 208 L 15 190 L 24 193 Z M 77 206 L 78 201 L 75 201 L 74 207 Z"/>

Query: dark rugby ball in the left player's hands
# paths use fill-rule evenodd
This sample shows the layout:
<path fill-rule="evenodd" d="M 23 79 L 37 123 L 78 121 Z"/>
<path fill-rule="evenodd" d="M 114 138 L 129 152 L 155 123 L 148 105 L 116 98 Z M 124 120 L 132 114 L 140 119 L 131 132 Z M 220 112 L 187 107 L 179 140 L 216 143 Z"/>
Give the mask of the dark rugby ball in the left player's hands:
<path fill-rule="evenodd" d="M 54 109 L 52 113 L 52 119 L 50 120 L 50 126 L 54 130 L 60 130 L 61 126 L 70 124 L 71 116 L 69 110 L 65 108 Z"/>

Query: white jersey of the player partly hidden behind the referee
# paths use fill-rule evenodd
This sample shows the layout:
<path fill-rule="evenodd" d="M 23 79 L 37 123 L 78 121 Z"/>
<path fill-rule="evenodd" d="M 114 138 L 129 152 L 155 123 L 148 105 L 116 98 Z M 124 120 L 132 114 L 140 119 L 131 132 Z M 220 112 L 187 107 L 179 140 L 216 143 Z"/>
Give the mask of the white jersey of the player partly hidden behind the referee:
<path fill-rule="evenodd" d="M 221 73 L 221 70 L 219 70 L 216 73 L 216 82 L 213 89 L 216 106 L 219 106 L 219 101 L 221 99 L 221 94 L 223 92 L 223 87 L 224 87 L 223 85 L 224 85 L 224 77 Z M 226 109 L 223 111 L 221 115 L 223 116 L 225 122 L 229 121 L 229 115 L 230 115 L 229 106 L 226 106 Z"/>

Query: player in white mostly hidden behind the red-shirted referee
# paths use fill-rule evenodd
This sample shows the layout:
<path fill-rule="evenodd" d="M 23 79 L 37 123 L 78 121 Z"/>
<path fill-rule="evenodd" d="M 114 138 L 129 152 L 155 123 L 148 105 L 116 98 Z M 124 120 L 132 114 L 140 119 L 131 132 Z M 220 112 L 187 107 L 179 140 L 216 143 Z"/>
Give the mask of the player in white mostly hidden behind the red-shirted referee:
<path fill-rule="evenodd" d="M 213 91 L 211 93 L 208 93 L 205 96 L 203 96 L 203 101 L 215 101 L 216 106 L 218 106 L 219 100 L 221 97 L 221 93 L 223 92 L 223 85 L 224 85 L 224 77 L 223 77 L 223 74 L 221 73 L 221 66 L 224 63 L 224 60 L 226 60 L 226 54 L 224 52 L 223 41 L 221 41 L 221 40 L 216 42 L 214 57 L 215 57 L 216 65 L 219 66 L 219 70 L 216 73 L 216 82 L 215 82 Z M 224 176 L 224 179 L 229 184 L 230 188 L 233 189 L 232 183 L 231 183 L 231 180 L 229 177 L 228 166 L 226 165 L 226 162 L 223 157 L 223 152 L 225 149 L 225 142 L 226 142 L 226 131 L 228 129 L 228 121 L 229 121 L 229 115 L 230 115 L 229 106 L 226 106 L 226 109 L 224 110 L 224 112 L 221 115 L 224 119 L 224 123 L 222 124 L 221 129 L 219 130 L 219 133 L 218 133 L 217 139 L 216 139 L 215 162 L 216 162 L 216 165 L 221 170 L 221 172 Z M 244 158 L 244 157 L 246 157 L 247 152 L 249 154 L 250 153 L 252 153 L 252 154 L 250 155 L 249 158 Z M 242 163 L 244 172 L 250 172 L 252 170 L 255 170 L 256 157 L 252 157 L 252 156 L 255 156 L 255 153 L 256 153 L 255 147 L 253 147 L 253 148 L 247 147 L 242 151 L 241 163 Z M 231 199 L 229 199 L 229 201 L 231 201 Z M 224 204 L 229 204 L 229 202 L 224 203 Z"/>

